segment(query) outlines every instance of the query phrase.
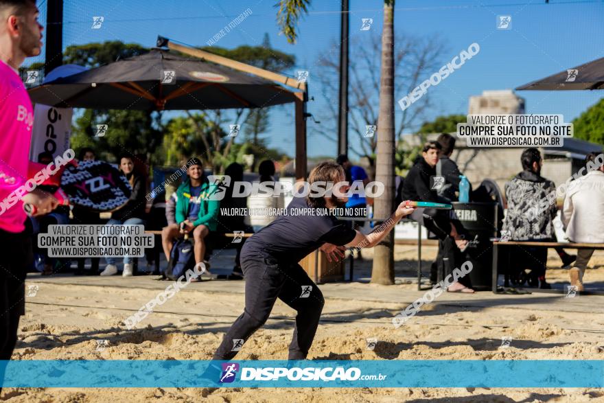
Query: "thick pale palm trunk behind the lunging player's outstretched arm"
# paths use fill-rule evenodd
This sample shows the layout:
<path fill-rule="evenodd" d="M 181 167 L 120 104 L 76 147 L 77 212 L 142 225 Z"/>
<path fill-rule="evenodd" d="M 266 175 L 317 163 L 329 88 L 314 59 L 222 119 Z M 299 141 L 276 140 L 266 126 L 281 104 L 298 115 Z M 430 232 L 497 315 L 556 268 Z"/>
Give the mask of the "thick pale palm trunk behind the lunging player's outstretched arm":
<path fill-rule="evenodd" d="M 377 118 L 377 158 L 375 180 L 384 183 L 384 194 L 375 199 L 375 218 L 386 219 L 394 211 L 394 2 L 384 0 L 382 68 L 380 73 L 380 115 Z M 371 282 L 394 284 L 394 230 L 375 246 Z"/>

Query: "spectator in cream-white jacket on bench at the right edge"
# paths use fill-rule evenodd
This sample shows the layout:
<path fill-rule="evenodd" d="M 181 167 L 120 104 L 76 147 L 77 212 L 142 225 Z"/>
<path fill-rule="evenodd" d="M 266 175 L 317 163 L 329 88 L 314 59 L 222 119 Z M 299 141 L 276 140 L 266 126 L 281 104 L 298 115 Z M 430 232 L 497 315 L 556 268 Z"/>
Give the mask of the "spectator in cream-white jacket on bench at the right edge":
<path fill-rule="evenodd" d="M 590 152 L 585 163 L 593 163 L 599 153 Z M 572 181 L 566 191 L 562 209 L 562 224 L 570 242 L 603 243 L 604 233 L 604 165 Z M 570 269 L 570 285 L 583 291 L 585 268 L 594 249 L 579 249 L 577 262 Z"/>

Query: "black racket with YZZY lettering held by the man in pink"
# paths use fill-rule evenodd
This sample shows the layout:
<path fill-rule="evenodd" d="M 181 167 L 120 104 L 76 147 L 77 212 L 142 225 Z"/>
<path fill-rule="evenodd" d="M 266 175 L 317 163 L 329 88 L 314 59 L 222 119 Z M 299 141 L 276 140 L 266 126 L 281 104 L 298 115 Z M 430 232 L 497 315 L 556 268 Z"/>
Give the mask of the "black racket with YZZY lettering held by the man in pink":
<path fill-rule="evenodd" d="M 82 161 L 78 166 L 68 165 L 60 176 L 60 186 L 49 189 L 60 205 L 73 205 L 91 211 L 115 211 L 126 204 L 132 187 L 126 176 L 110 163 Z M 36 214 L 36 206 L 24 204 L 29 215 Z"/>

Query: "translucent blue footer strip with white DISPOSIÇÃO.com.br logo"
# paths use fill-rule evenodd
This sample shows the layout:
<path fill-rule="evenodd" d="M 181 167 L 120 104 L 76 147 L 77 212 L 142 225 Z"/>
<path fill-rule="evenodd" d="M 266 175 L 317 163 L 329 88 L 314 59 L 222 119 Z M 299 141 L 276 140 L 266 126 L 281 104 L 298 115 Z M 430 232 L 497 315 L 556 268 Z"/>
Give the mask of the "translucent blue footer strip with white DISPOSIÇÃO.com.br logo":
<path fill-rule="evenodd" d="M 16 360 L 2 387 L 601 388 L 604 360 Z"/>

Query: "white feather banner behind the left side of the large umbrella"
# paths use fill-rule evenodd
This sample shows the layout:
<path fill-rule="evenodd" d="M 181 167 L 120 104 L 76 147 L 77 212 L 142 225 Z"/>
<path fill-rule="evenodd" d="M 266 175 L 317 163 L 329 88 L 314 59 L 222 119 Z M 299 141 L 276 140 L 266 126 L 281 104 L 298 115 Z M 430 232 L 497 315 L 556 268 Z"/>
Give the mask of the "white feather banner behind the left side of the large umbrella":
<path fill-rule="evenodd" d="M 78 65 L 59 66 L 44 78 L 50 82 L 57 78 L 71 76 L 86 70 Z M 54 108 L 53 106 L 36 104 L 34 107 L 34 127 L 32 128 L 32 144 L 30 160 L 38 162 L 42 152 L 50 152 L 52 157 L 62 155 L 69 148 L 71 137 L 72 108 Z"/>

